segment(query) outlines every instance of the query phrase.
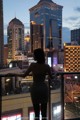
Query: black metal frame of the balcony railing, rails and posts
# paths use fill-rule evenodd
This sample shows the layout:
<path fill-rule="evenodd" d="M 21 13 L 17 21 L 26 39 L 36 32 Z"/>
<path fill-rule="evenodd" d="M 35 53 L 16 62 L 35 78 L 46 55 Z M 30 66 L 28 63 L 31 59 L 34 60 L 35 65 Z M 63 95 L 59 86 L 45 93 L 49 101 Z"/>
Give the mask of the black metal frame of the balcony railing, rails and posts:
<path fill-rule="evenodd" d="M 65 103 L 64 103 L 64 94 L 65 94 L 65 86 L 64 86 L 64 82 L 65 82 L 65 75 L 80 75 L 80 72 L 57 72 L 55 77 L 60 76 L 60 93 L 61 93 L 61 120 L 65 119 L 65 115 L 64 115 L 64 107 L 65 107 Z M 1 88 L 1 92 L 0 92 L 0 96 L 1 96 L 1 101 L 2 101 L 2 77 L 15 77 L 16 76 L 8 76 L 8 75 L 0 75 L 0 88 Z M 54 79 L 56 79 L 54 77 Z M 69 78 L 69 77 L 68 77 Z M 73 79 L 73 78 L 72 78 Z M 55 83 L 55 80 L 53 80 Z M 80 76 L 78 78 L 78 81 L 80 82 Z M 51 84 L 49 83 L 49 120 L 51 120 Z M 54 90 L 54 89 L 53 89 Z M 79 91 L 80 92 L 80 91 Z M 0 102 L 1 103 L 1 102 Z M 79 108 L 80 109 L 80 108 Z M 2 114 L 2 113 L 1 113 Z M 75 118 L 73 118 L 75 119 Z M 77 119 L 80 119 L 80 116 L 77 117 Z M 70 120 L 70 119 L 69 119 Z"/>

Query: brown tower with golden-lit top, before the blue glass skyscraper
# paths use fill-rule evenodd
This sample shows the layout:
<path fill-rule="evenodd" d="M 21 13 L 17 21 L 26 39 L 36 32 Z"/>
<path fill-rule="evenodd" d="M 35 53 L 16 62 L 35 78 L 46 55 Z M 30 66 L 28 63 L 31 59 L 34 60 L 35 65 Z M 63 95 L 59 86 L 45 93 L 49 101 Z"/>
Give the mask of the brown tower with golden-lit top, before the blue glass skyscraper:
<path fill-rule="evenodd" d="M 42 48 L 43 49 L 43 25 L 33 24 L 31 22 L 31 51 L 34 49 Z"/>

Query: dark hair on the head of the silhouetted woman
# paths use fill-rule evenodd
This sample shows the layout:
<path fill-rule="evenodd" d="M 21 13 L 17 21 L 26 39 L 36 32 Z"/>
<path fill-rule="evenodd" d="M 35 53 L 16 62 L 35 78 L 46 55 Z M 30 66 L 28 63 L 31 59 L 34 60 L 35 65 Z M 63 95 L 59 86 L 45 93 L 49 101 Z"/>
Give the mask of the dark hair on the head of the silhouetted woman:
<path fill-rule="evenodd" d="M 43 49 L 38 48 L 34 50 L 34 60 L 38 63 L 45 63 L 45 54 Z"/>

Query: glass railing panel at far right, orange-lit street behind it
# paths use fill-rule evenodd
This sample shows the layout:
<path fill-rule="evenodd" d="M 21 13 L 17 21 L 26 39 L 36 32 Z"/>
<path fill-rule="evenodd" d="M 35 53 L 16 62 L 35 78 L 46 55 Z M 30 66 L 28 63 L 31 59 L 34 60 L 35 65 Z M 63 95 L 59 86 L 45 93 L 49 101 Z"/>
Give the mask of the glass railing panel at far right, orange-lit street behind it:
<path fill-rule="evenodd" d="M 80 118 L 80 74 L 64 75 L 64 117 Z"/>

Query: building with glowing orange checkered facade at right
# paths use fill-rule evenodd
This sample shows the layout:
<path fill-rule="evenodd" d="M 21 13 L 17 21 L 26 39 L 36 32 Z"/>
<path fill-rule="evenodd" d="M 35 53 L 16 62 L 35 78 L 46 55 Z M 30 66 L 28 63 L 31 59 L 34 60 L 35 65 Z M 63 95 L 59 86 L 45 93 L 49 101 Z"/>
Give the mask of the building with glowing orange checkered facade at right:
<path fill-rule="evenodd" d="M 80 46 L 64 46 L 64 71 L 80 72 Z"/>

